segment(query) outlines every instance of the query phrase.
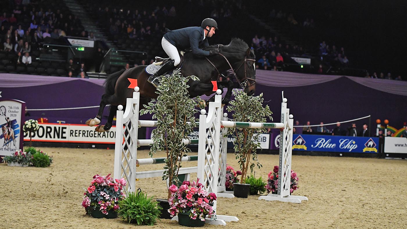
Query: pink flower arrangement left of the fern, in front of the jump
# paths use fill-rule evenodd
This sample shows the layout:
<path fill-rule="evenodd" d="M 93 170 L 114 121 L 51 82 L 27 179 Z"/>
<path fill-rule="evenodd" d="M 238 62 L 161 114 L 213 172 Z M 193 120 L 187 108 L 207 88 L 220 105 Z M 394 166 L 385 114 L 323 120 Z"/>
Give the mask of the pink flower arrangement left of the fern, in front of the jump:
<path fill-rule="evenodd" d="M 103 214 L 108 214 L 109 210 L 119 209 L 118 201 L 126 196 L 123 187 L 126 185 L 124 178 L 114 179 L 108 174 L 106 177 L 94 175 L 89 187 L 83 194 L 82 206 L 86 212 L 90 210 L 100 210 Z"/>

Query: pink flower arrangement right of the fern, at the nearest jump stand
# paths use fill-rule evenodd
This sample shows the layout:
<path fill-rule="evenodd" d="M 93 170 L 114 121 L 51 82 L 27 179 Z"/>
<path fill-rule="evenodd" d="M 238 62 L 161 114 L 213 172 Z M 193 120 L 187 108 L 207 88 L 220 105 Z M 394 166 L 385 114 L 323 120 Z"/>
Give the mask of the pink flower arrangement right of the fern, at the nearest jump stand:
<path fill-rule="evenodd" d="M 206 192 L 204 186 L 197 181 L 190 183 L 184 181 L 180 187 L 171 185 L 168 189 L 171 192 L 171 197 L 168 199 L 170 209 L 168 212 L 171 216 L 178 213 L 189 213 L 191 219 L 199 218 L 205 221 L 205 216 L 208 218 L 214 217 L 213 201 L 216 201 L 216 194 Z"/>

